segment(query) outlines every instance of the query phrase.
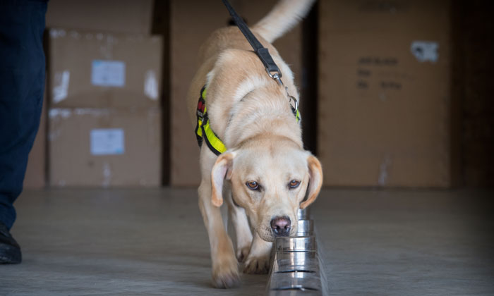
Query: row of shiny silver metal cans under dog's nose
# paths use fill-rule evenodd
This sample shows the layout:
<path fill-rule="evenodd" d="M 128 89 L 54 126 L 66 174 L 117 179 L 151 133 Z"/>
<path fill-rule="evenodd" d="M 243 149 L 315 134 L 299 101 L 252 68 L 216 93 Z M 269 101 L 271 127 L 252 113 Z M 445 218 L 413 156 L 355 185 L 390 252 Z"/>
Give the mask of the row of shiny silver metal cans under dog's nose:
<path fill-rule="evenodd" d="M 297 236 L 276 239 L 267 295 L 325 295 L 313 220 L 308 209 L 298 215 Z"/>

